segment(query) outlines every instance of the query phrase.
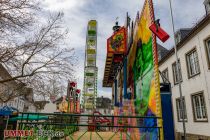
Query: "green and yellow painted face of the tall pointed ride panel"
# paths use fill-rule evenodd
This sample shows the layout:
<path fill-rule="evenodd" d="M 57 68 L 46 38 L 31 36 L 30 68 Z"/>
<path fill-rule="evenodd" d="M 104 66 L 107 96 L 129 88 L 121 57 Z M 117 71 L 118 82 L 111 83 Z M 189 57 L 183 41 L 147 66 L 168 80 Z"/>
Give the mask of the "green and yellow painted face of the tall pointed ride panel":
<path fill-rule="evenodd" d="M 133 67 L 135 77 L 135 112 L 140 116 L 157 116 L 155 95 L 155 77 L 153 60 L 153 36 L 149 29 L 152 24 L 152 16 L 149 0 L 145 1 L 141 17 L 139 19 L 136 44 L 136 58 Z M 142 119 L 139 125 L 151 127 L 157 124 L 156 119 Z M 158 131 L 155 128 L 139 129 L 142 139 L 157 138 Z"/>

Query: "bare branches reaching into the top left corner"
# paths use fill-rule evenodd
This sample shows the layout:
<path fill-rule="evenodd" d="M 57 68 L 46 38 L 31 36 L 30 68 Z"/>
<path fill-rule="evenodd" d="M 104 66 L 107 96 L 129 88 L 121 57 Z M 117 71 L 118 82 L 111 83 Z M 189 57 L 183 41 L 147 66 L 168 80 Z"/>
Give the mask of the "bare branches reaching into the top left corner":
<path fill-rule="evenodd" d="M 35 0 L 0 0 L 1 37 L 30 27 L 38 9 L 38 2 Z"/>

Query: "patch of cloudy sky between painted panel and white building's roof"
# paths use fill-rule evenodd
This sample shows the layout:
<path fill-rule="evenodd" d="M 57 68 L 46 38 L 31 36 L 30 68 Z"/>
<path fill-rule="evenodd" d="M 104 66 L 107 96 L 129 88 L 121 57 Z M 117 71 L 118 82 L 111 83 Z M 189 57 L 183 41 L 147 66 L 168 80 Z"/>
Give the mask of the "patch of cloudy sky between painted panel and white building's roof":
<path fill-rule="evenodd" d="M 156 18 L 160 19 L 160 24 L 169 34 L 170 38 L 166 43 L 161 43 L 164 47 L 170 49 L 174 44 L 173 30 L 171 23 L 171 14 L 169 0 L 154 0 L 154 9 Z M 180 28 L 190 28 L 205 14 L 203 2 L 198 0 L 172 0 L 172 9 L 174 16 L 175 30 Z"/>

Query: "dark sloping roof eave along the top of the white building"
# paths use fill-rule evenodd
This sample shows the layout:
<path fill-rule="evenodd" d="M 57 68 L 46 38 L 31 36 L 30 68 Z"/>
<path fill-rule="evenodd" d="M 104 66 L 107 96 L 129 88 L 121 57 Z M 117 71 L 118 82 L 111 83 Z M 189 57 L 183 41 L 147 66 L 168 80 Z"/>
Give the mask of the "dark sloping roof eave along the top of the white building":
<path fill-rule="evenodd" d="M 188 34 L 184 35 L 184 38 L 177 44 L 177 50 L 182 48 L 192 37 L 194 37 L 200 30 L 206 27 L 210 23 L 210 14 L 206 15 L 201 19 L 190 31 Z M 160 61 L 159 65 L 162 65 L 168 58 L 170 58 L 174 54 L 174 48 L 169 50 L 168 54 L 165 55 Z"/>

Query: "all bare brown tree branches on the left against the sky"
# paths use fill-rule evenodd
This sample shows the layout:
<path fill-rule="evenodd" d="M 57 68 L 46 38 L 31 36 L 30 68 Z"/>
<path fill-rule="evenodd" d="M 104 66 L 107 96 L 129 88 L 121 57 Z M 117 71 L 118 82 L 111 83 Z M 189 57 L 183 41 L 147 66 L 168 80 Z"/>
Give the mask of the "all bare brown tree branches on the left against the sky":
<path fill-rule="evenodd" d="M 0 4 L 0 32 L 19 32 L 31 26 L 30 10 L 37 8 L 34 1 L 3 0 Z M 12 11 L 16 8 L 19 15 L 15 16 Z M 0 65 L 11 75 L 1 78 L 0 84 L 7 85 L 12 81 L 26 83 L 34 89 L 36 95 L 44 98 L 64 92 L 63 84 L 73 77 L 76 59 L 74 49 L 66 47 L 64 43 L 68 31 L 62 26 L 62 17 L 62 13 L 51 15 L 47 22 L 35 26 L 33 32 L 24 33 L 28 36 L 25 39 L 22 37 L 20 41 L 16 40 L 18 43 L 8 40 L 0 42 Z M 13 18 L 15 20 L 11 20 Z M 54 87 L 53 82 L 56 83 Z M 11 92 L 10 97 L 3 99 L 1 96 L 4 95 L 0 92 L 0 101 L 20 96 L 19 93 L 21 92 Z"/>

